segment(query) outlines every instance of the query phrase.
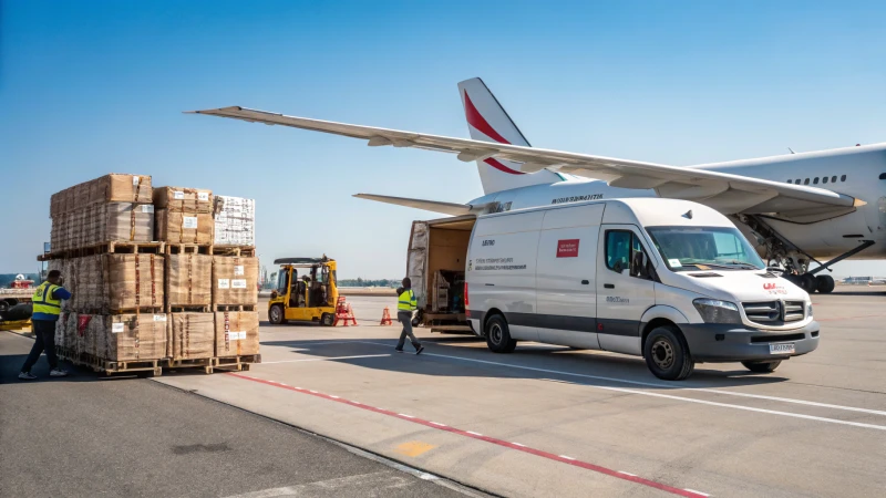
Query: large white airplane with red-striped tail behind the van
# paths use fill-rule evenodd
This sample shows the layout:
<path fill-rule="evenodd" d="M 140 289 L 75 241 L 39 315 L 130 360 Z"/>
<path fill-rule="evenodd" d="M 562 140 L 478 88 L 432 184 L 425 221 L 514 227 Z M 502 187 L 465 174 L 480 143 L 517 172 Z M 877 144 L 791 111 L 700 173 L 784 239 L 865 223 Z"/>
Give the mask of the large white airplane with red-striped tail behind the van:
<path fill-rule="evenodd" d="M 729 216 L 772 271 L 827 293 L 818 274 L 847 258 L 886 257 L 886 143 L 698 166 L 670 166 L 536 148 L 478 77 L 459 83 L 471 139 L 336 123 L 231 106 L 208 114 L 415 147 L 475 162 L 484 195 L 466 204 L 372 194 L 360 197 L 444 215 L 482 215 L 624 197 L 693 200 Z M 874 180 L 877 178 L 877 180 Z M 826 260 L 826 262 L 822 262 Z M 811 263 L 818 264 L 811 268 Z"/>

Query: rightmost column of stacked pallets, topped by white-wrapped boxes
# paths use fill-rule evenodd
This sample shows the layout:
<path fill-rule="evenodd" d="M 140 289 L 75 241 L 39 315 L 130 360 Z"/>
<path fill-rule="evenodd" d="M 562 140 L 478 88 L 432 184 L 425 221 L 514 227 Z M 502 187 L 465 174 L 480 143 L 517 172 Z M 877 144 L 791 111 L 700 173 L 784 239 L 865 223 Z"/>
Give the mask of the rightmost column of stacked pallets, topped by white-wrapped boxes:
<path fill-rule="evenodd" d="M 240 369 L 260 361 L 255 200 L 216 196 L 214 212 L 215 364 Z"/>

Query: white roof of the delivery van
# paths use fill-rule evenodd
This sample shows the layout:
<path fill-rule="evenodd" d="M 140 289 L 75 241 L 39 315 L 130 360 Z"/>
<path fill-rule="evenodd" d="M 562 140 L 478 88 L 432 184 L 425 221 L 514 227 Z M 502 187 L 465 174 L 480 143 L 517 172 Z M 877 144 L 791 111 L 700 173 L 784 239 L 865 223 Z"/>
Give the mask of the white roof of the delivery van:
<path fill-rule="evenodd" d="M 632 215 L 636 221 L 642 226 L 667 226 L 667 225 L 694 225 L 707 227 L 734 227 L 732 221 L 720 211 L 699 203 L 682 199 L 663 199 L 660 197 L 627 197 L 619 199 L 597 199 L 579 203 L 568 203 L 550 206 L 537 206 L 513 211 L 495 212 L 482 215 L 480 218 L 516 215 L 521 212 L 547 211 L 552 209 L 567 209 L 577 206 L 589 206 L 597 204 L 607 205 L 607 215 L 604 219 L 610 218 L 612 208 L 626 211 L 625 215 Z M 689 214 L 691 211 L 691 215 Z M 691 218 L 690 218 L 691 216 Z M 690 221 L 691 220 L 691 221 Z M 605 221 L 622 222 L 622 221 Z"/>

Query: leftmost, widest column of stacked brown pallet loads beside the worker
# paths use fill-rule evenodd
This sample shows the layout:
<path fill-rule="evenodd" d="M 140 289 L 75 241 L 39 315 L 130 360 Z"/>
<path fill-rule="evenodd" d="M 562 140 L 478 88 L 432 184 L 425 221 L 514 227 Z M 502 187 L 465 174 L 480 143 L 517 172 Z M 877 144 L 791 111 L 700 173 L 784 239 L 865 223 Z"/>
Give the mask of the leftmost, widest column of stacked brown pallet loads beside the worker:
<path fill-rule="evenodd" d="M 72 299 L 56 325 L 62 356 L 106 372 L 159 373 L 166 353 L 163 243 L 153 241 L 151 177 L 112 174 L 52 196 L 50 270 Z"/>

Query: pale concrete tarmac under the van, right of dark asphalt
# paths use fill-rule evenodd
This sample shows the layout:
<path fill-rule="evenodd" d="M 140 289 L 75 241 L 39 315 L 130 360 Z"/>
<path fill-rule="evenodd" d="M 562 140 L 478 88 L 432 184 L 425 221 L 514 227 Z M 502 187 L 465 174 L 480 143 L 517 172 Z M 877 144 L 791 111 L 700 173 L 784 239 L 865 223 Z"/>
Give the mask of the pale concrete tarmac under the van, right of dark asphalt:
<path fill-rule="evenodd" d="M 262 325 L 249 372 L 163 376 L 430 474 L 504 496 L 876 496 L 886 488 L 886 294 L 815 295 L 821 346 L 752 374 L 688 381 L 641 359 L 521 343 L 509 355 L 429 334 L 398 354 L 387 298 L 360 326 Z"/>

